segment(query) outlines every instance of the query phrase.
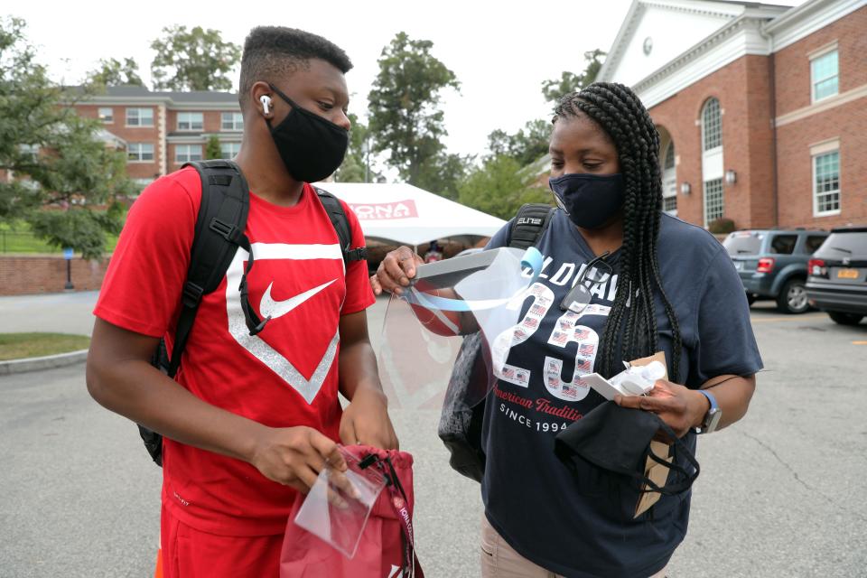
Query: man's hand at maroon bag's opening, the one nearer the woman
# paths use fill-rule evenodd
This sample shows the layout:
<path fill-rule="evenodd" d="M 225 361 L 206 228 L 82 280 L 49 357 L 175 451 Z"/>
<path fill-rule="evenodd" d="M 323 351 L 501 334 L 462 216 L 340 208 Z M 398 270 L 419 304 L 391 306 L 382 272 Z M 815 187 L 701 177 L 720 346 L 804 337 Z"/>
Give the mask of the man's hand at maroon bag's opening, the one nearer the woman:
<path fill-rule="evenodd" d="M 383 450 L 397 449 L 397 435 L 388 417 L 386 395 L 373 387 L 360 387 L 340 419 L 340 440 Z"/>

